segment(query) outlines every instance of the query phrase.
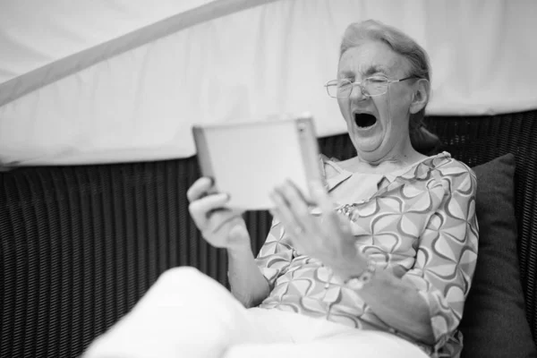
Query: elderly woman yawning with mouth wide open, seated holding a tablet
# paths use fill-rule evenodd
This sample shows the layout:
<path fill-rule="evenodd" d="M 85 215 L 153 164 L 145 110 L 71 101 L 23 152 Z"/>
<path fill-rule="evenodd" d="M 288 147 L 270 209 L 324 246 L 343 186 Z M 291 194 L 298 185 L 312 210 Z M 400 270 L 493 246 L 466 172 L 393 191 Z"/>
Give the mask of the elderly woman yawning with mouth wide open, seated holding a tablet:
<path fill-rule="evenodd" d="M 357 156 L 322 158 L 326 181 L 313 184 L 313 203 L 293 183 L 275 189 L 257 258 L 243 217 L 200 178 L 191 214 L 227 249 L 233 295 L 193 268 L 172 269 L 88 357 L 460 354 L 476 183 L 448 153 L 424 154 L 438 147 L 422 124 L 425 51 L 380 22 L 352 24 L 326 87 Z"/>

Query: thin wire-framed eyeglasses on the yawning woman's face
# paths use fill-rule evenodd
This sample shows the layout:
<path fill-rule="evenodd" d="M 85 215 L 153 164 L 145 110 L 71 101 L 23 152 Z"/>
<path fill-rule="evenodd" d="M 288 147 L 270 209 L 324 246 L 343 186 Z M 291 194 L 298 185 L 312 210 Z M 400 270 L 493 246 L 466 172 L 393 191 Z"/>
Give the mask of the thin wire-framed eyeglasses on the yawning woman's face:
<path fill-rule="evenodd" d="M 388 80 L 386 77 L 368 77 L 362 82 L 351 82 L 349 80 L 332 80 L 325 84 L 328 96 L 331 98 L 349 98 L 353 93 L 354 86 L 359 86 L 365 97 L 381 96 L 388 92 L 390 83 L 396 83 L 416 78 L 414 76 L 405 77 L 400 80 Z"/>

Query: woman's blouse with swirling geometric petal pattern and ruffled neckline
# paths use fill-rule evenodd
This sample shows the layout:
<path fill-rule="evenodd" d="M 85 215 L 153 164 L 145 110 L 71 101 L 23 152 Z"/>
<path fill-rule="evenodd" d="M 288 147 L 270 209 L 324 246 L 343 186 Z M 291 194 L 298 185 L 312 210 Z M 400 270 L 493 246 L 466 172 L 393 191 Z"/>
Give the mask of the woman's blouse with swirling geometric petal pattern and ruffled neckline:
<path fill-rule="evenodd" d="M 322 161 L 325 168 L 337 168 L 336 175 L 326 178 L 328 191 L 359 175 L 328 158 Z M 402 279 L 415 286 L 429 305 L 435 345 L 415 342 L 380 320 L 359 291 L 332 277 L 320 260 L 297 252 L 276 219 L 256 259 L 271 287 L 260 308 L 387 331 L 419 345 L 432 357 L 458 357 L 462 334 L 457 327 L 477 259 L 472 169 L 444 152 L 403 172 L 377 175 L 370 195 L 367 185 L 362 185 L 366 182 L 358 177 L 356 183 L 356 187 L 366 187 L 361 194 L 365 199 L 337 203 L 338 209 L 349 217 L 359 251 L 378 267 L 405 268 Z M 311 213 L 319 215 L 316 209 Z"/>

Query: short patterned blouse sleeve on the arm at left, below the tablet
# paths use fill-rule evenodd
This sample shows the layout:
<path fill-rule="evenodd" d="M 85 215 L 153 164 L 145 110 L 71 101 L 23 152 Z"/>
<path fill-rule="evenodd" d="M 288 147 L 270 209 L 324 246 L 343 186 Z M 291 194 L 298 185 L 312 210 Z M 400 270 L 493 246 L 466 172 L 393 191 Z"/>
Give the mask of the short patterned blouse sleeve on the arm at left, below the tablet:
<path fill-rule="evenodd" d="M 255 259 L 261 273 L 267 278 L 270 289 L 274 287 L 277 277 L 286 273 L 293 257 L 294 248 L 289 235 L 286 234 L 284 226 L 273 219 L 267 240 Z"/>

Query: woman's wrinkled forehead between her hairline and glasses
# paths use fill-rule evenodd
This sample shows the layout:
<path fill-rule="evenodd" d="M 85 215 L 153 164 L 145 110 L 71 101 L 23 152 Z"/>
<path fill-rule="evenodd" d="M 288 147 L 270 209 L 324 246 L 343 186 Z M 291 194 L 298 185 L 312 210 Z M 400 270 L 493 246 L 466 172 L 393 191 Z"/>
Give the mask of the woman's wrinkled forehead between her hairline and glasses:
<path fill-rule="evenodd" d="M 404 76 L 410 71 L 410 64 L 403 55 L 397 54 L 382 42 L 367 42 L 351 47 L 339 59 L 337 78 L 368 77 L 385 75 Z"/>

